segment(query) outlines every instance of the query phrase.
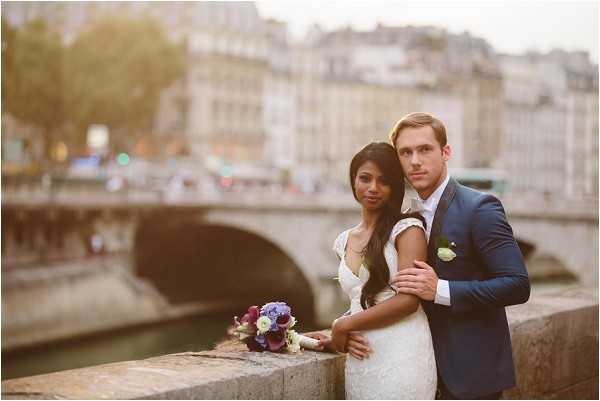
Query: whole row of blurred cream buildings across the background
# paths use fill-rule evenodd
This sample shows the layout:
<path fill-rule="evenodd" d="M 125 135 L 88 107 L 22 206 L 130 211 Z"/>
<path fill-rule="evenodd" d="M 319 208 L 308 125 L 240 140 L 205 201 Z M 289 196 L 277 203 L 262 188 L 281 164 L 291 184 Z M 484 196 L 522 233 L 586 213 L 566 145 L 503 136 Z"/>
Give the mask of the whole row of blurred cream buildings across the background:
<path fill-rule="evenodd" d="M 598 197 L 598 67 L 584 52 L 498 55 L 432 26 L 377 25 L 292 43 L 250 2 L 14 2 L 19 25 L 45 18 L 69 43 L 105 15 L 152 15 L 185 41 L 185 77 L 161 95 L 153 134 L 212 165 L 285 171 L 306 191 L 348 187 L 350 159 L 403 115 L 446 125 L 450 168 L 494 168 L 515 194 Z M 210 163 L 209 163 L 210 164 Z M 536 199 L 537 199 L 536 198 Z"/>

